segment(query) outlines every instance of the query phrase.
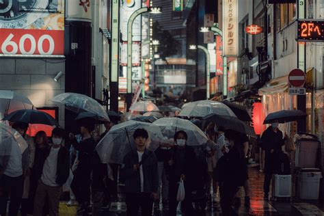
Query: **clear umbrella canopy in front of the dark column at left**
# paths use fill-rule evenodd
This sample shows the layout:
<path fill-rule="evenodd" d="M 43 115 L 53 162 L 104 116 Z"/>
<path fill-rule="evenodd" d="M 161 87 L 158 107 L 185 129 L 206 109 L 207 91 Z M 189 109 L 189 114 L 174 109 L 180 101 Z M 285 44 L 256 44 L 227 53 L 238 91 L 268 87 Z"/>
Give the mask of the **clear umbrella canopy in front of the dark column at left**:
<path fill-rule="evenodd" d="M 65 105 L 66 109 L 69 109 L 75 113 L 88 111 L 104 118 L 105 120 L 109 120 L 105 108 L 103 108 L 103 106 L 101 106 L 96 100 L 84 94 L 67 92 L 55 96 L 52 101 Z"/>

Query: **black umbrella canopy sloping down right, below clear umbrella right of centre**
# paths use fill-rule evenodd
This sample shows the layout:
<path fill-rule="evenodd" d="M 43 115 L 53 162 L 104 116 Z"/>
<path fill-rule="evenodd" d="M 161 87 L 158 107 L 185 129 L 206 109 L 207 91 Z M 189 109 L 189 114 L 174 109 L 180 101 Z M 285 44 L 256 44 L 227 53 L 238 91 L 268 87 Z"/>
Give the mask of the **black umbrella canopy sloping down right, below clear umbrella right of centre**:
<path fill-rule="evenodd" d="M 254 133 L 254 129 L 252 128 L 252 126 L 245 124 L 245 122 L 242 122 L 241 120 L 233 116 L 209 114 L 208 116 L 205 116 L 202 119 L 208 122 L 214 122 L 218 126 L 222 126 L 226 129 L 231 129 L 239 133 L 256 137 L 256 133 Z"/>

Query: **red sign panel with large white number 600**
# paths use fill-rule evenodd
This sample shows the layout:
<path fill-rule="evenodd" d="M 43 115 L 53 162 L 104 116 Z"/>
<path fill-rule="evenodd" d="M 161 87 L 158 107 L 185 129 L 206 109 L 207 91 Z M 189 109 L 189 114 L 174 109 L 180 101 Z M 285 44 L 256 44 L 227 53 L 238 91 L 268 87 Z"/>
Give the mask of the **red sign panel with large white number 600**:
<path fill-rule="evenodd" d="M 2 55 L 64 55 L 64 31 L 0 29 Z"/>

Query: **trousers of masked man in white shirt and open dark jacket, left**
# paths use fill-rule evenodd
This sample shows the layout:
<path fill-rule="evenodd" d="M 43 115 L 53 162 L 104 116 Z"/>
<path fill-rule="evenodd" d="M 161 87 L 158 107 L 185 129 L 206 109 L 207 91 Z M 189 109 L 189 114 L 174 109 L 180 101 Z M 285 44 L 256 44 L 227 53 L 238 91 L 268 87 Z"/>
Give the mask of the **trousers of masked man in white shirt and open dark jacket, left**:
<path fill-rule="evenodd" d="M 60 186 L 52 187 L 45 185 L 40 180 L 38 183 L 35 202 L 33 205 L 33 216 L 42 216 L 44 215 L 43 209 L 46 201 L 49 203 L 49 216 L 58 216 L 59 215 L 59 197 L 61 195 Z"/>

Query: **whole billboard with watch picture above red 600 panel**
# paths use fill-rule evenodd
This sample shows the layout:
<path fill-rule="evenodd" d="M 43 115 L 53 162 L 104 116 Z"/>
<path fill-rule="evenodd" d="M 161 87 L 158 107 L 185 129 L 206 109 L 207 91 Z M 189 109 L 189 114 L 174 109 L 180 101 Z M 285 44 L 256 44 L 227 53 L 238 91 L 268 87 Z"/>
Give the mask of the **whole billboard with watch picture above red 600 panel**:
<path fill-rule="evenodd" d="M 64 0 L 0 1 L 0 55 L 64 55 Z"/>

